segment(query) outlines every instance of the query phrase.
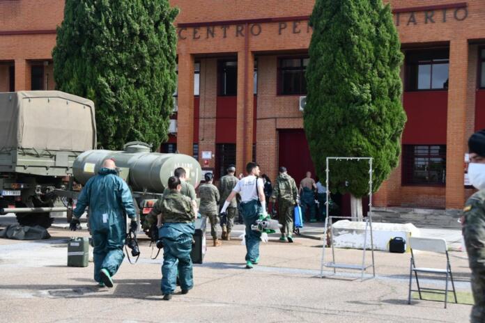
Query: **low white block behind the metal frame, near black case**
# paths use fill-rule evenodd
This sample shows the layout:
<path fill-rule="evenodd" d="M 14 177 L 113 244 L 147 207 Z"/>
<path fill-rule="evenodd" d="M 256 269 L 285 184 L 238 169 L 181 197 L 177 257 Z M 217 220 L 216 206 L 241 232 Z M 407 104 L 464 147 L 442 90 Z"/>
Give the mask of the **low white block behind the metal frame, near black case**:
<path fill-rule="evenodd" d="M 419 229 L 412 223 L 372 222 L 374 250 L 389 251 L 389 240 L 401 237 L 409 251 L 409 237 L 418 237 Z M 362 249 L 364 247 L 365 222 L 342 220 L 333 223 L 334 246 L 336 248 Z M 370 249 L 370 229 L 367 228 L 367 249 Z"/>

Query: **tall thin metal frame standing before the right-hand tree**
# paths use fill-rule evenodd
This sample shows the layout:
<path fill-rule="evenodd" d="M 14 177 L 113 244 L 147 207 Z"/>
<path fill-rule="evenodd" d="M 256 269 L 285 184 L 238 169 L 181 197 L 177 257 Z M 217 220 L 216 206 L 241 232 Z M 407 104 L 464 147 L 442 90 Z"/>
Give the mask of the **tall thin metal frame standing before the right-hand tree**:
<path fill-rule="evenodd" d="M 329 203 L 328 201 L 330 200 L 330 189 L 329 189 L 329 184 L 330 184 L 330 167 L 329 167 L 329 161 L 330 160 L 335 160 L 335 161 L 360 161 L 360 160 L 367 160 L 369 161 L 369 213 L 367 214 L 367 218 L 365 219 L 365 233 L 364 233 L 364 247 L 362 250 L 362 264 L 361 265 L 350 265 L 350 264 L 344 264 L 344 263 L 337 263 L 335 262 L 335 249 L 334 249 L 334 241 L 333 241 L 333 226 L 332 226 L 332 219 L 353 219 L 352 216 L 330 216 L 329 214 Z M 361 281 L 364 281 L 364 271 L 372 267 L 372 273 L 374 278 L 376 277 L 376 267 L 375 267 L 375 262 L 374 262 L 374 239 L 372 236 L 372 174 L 373 174 L 373 169 L 372 169 L 372 157 L 327 157 L 326 159 L 326 168 L 325 168 L 325 173 L 326 173 L 326 181 L 325 181 L 325 186 L 327 188 L 327 200 L 325 201 L 325 210 L 327 216 L 325 217 L 325 230 L 323 230 L 323 247 L 322 247 L 322 259 L 321 259 L 321 266 L 320 266 L 320 277 L 323 278 L 323 267 L 330 267 L 333 268 L 334 274 L 337 274 L 336 269 L 350 269 L 350 270 L 360 270 L 361 271 Z M 331 262 L 325 262 L 325 242 L 327 239 L 327 233 L 328 233 L 328 223 L 330 221 L 330 244 L 332 245 L 332 261 Z M 370 237 L 371 237 L 371 255 L 372 255 L 372 263 L 371 265 L 366 265 L 365 264 L 365 253 L 367 250 L 367 230 L 370 230 Z M 328 275 L 328 276 L 333 276 Z M 326 277 L 326 276 L 325 276 Z"/>

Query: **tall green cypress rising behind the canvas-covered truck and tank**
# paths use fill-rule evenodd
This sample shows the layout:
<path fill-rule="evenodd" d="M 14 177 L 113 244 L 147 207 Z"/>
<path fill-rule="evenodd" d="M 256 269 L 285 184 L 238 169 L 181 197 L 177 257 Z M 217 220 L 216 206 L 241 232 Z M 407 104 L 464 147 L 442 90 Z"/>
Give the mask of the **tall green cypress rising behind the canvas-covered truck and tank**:
<path fill-rule="evenodd" d="M 99 147 L 167 139 L 177 14 L 168 0 L 66 0 L 54 79 L 59 90 L 95 103 Z"/>

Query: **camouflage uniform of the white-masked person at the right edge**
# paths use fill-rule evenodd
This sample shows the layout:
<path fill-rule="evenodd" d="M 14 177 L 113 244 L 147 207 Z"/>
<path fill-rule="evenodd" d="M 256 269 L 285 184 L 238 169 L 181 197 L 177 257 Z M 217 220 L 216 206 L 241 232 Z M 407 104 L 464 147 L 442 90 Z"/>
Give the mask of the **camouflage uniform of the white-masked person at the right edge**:
<path fill-rule="evenodd" d="M 485 189 L 473 194 L 463 210 L 463 237 L 470 269 L 475 305 L 470 321 L 485 322 Z"/>

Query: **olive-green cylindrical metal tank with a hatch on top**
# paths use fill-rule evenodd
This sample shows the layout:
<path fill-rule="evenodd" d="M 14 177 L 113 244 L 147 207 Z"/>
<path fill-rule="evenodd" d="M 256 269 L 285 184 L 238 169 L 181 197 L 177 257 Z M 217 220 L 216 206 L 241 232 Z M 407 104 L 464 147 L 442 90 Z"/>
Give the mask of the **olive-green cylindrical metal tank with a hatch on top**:
<path fill-rule="evenodd" d="M 123 151 L 88 150 L 79 155 L 72 165 L 77 182 L 86 184 L 98 173 L 105 159 L 113 159 L 133 191 L 162 193 L 170 176 L 178 167 L 185 168 L 187 182 L 197 187 L 201 182 L 202 170 L 199 161 L 183 154 L 160 154 L 150 152 L 146 143 L 127 143 Z"/>

